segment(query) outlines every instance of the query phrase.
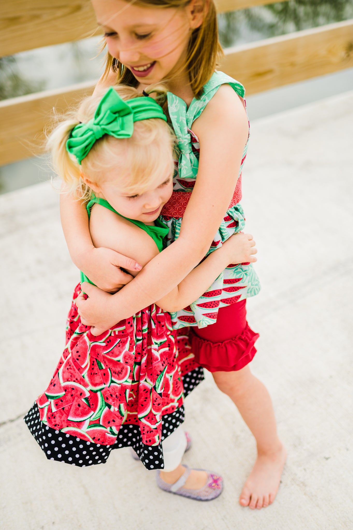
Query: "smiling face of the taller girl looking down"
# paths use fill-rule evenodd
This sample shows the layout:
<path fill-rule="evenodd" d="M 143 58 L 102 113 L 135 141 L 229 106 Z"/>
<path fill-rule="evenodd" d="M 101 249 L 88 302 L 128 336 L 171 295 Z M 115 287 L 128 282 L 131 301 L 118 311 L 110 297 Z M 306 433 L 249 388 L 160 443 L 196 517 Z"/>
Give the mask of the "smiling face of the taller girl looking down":
<path fill-rule="evenodd" d="M 109 53 L 149 85 L 170 77 L 186 61 L 190 33 L 203 14 L 199 0 L 183 8 L 139 6 L 124 0 L 92 0 Z"/>

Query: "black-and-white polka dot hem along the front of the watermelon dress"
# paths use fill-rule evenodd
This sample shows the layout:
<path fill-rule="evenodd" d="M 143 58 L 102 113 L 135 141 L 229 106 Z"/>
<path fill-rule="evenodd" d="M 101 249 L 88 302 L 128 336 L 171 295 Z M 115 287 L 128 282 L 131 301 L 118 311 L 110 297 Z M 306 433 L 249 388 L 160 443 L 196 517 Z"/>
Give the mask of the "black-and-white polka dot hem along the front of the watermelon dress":
<path fill-rule="evenodd" d="M 146 469 L 154 470 L 164 467 L 162 445 L 149 446 L 144 444 L 136 425 L 123 425 L 113 445 L 101 445 L 65 434 L 45 425 L 40 420 L 37 403 L 33 404 L 31 410 L 24 417 L 24 421 L 48 460 L 86 467 L 105 464 L 112 449 L 133 447 Z M 163 417 L 162 440 L 172 434 L 183 421 L 183 407 L 171 414 L 166 414 Z"/>

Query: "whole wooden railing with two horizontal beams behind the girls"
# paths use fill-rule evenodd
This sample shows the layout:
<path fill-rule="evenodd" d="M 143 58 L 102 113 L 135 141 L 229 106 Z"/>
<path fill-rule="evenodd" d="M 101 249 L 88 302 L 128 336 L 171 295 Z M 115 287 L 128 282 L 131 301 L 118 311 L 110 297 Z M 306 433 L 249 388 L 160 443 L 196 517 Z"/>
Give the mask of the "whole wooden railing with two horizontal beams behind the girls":
<path fill-rule="evenodd" d="M 273 0 L 216 0 L 218 12 Z M 90 0 L 0 3 L 0 55 L 99 34 Z M 353 20 L 298 31 L 225 50 L 222 70 L 246 88 L 269 90 L 353 66 Z M 93 90 L 82 83 L 0 101 L 0 165 L 32 156 L 53 107 L 65 110 Z M 29 147 L 30 146 L 30 147 Z"/>

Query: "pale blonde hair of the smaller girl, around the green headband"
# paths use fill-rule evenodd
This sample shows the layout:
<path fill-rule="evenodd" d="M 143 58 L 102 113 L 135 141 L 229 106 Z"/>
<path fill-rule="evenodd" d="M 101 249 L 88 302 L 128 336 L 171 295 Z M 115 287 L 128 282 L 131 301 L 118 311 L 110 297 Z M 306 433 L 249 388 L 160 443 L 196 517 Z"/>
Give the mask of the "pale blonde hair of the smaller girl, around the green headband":
<path fill-rule="evenodd" d="M 123 100 L 143 95 L 130 86 L 117 85 L 114 90 Z M 163 89 L 157 87 L 153 92 L 157 98 L 163 99 Z M 102 93 L 84 99 L 80 107 L 67 114 L 48 136 L 47 149 L 51 151 L 54 170 L 63 178 L 69 192 L 78 199 L 89 200 L 92 189 L 82 176 L 99 185 L 112 169 L 121 190 L 129 195 L 140 195 L 152 185 L 160 184 L 164 176 L 166 179 L 172 175 L 175 137 L 169 125 L 160 118 L 136 121 L 130 138 L 102 136 L 81 165 L 78 164 L 66 150 L 67 139 L 78 123 L 87 123 L 94 117 L 101 98 Z"/>

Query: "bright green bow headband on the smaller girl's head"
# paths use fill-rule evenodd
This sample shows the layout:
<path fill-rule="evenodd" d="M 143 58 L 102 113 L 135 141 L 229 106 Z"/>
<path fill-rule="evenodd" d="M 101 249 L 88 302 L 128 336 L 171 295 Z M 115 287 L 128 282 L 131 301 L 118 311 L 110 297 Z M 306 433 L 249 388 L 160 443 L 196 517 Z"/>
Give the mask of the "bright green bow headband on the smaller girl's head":
<path fill-rule="evenodd" d="M 89 154 L 96 140 L 105 134 L 114 138 L 130 138 L 134 121 L 161 118 L 166 121 L 162 108 L 153 98 L 122 100 L 111 86 L 101 99 L 94 118 L 76 125 L 66 142 L 67 151 L 81 162 Z"/>

